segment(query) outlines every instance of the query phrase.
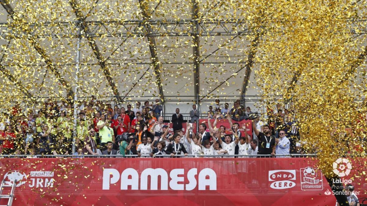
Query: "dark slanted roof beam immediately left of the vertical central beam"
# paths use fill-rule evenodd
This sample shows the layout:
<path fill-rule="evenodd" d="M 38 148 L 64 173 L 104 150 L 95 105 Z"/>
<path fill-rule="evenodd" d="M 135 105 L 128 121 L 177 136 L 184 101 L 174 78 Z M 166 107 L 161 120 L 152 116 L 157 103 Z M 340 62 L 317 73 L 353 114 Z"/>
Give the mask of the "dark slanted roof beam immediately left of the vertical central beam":
<path fill-rule="evenodd" d="M 139 8 L 143 15 L 143 20 L 145 24 L 146 33 L 147 33 L 146 38 L 148 39 L 148 42 L 149 42 L 149 51 L 150 51 L 150 56 L 152 58 L 152 63 L 153 63 L 152 66 L 154 67 L 153 71 L 154 71 L 154 76 L 156 77 L 156 85 L 158 87 L 159 97 L 161 101 L 164 102 L 164 93 L 163 93 L 161 77 L 160 77 L 161 62 L 158 60 L 157 45 L 156 45 L 155 37 L 149 36 L 149 34 L 153 32 L 152 26 L 150 25 L 150 22 L 149 22 L 149 19 L 151 17 L 151 14 L 149 12 L 149 5 L 146 0 L 138 0 L 138 1 L 139 1 Z"/>

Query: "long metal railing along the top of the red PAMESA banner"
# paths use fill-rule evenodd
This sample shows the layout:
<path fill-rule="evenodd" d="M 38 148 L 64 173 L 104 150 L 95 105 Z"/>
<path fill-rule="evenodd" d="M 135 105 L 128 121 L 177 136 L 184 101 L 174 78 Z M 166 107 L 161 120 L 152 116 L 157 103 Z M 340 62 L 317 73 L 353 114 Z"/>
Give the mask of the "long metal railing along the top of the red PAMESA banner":
<path fill-rule="evenodd" d="M 174 155 L 174 157 L 187 157 L 187 158 L 255 158 L 255 157 L 316 157 L 316 154 L 288 154 L 288 155 Z M 139 157 L 151 157 L 150 155 L 0 155 L 0 158 L 139 158 Z M 172 157 L 171 155 L 154 155 L 153 157 Z"/>

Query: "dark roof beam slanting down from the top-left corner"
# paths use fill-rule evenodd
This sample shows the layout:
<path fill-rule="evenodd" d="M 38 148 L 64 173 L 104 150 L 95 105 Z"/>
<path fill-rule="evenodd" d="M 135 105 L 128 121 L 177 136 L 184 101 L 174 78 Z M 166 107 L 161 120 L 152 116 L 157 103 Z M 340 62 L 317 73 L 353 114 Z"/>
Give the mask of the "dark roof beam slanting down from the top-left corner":
<path fill-rule="evenodd" d="M 13 21 L 17 21 L 18 18 L 15 16 L 14 9 L 9 4 L 8 0 L 0 0 L 1 5 L 4 7 L 4 9 L 7 11 L 7 13 L 10 15 L 10 17 L 13 19 Z M 46 51 L 40 46 L 40 44 L 36 41 L 36 38 L 34 38 L 32 35 L 30 35 L 30 29 L 28 24 L 22 23 L 22 30 L 26 34 L 29 42 L 32 44 L 34 49 L 41 55 L 41 57 L 44 59 L 47 69 L 50 69 L 52 73 L 56 76 L 57 80 L 61 83 L 61 85 L 66 89 L 66 92 L 68 93 L 67 99 L 69 102 L 72 101 L 72 98 L 74 96 L 74 92 L 72 88 L 70 87 L 69 83 L 64 79 L 64 77 L 61 76 L 60 72 L 57 70 L 55 65 L 52 63 L 50 56 L 46 54 Z"/>

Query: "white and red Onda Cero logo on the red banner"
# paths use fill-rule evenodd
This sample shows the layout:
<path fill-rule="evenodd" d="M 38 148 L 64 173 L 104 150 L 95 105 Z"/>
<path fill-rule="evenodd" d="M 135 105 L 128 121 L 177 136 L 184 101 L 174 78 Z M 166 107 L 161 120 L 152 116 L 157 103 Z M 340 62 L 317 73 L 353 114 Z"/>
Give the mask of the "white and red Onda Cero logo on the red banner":
<path fill-rule="evenodd" d="M 296 185 L 296 170 L 270 170 L 269 182 L 270 187 L 273 189 L 288 189 Z"/>

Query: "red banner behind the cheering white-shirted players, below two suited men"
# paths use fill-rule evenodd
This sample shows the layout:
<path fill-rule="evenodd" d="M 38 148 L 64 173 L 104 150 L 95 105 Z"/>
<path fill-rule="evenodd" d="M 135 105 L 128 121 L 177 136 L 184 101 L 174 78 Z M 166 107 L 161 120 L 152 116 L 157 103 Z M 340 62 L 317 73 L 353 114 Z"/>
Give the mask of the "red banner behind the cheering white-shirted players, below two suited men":
<path fill-rule="evenodd" d="M 213 123 L 214 123 L 215 119 L 211 119 L 211 125 L 213 126 Z M 235 123 L 236 121 L 233 121 L 233 123 Z M 207 125 L 207 128 L 208 127 L 208 119 L 199 119 L 199 124 L 201 123 L 204 123 Z M 245 124 L 246 125 L 246 132 L 248 135 L 250 135 L 252 137 L 252 121 L 251 120 L 242 120 L 242 121 L 239 121 L 237 122 L 239 125 L 240 125 L 240 131 L 241 131 L 241 135 L 244 137 L 245 135 L 245 130 L 242 129 L 242 125 Z M 164 123 L 165 125 L 168 125 L 168 123 Z M 186 122 L 182 123 L 182 131 L 184 133 L 186 133 Z M 228 119 L 217 119 L 217 125 L 216 127 L 219 128 L 220 126 L 225 126 L 226 128 L 226 134 L 230 134 L 230 124 L 228 122 Z M 196 123 L 193 123 L 193 128 L 196 128 Z M 170 128 L 168 128 L 168 131 L 173 133 L 173 128 L 172 128 L 172 125 L 170 126 Z"/>

